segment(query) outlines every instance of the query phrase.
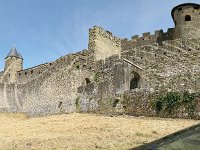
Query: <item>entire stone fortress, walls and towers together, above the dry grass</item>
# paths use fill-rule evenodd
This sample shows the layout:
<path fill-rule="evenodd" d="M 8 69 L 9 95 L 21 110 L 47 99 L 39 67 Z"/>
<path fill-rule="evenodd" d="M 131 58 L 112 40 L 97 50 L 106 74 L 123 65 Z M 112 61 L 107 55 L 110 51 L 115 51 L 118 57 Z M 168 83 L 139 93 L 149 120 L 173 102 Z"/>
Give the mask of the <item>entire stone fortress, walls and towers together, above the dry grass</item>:
<path fill-rule="evenodd" d="M 198 4 L 179 5 L 172 10 L 175 28 L 131 40 L 94 26 L 88 50 L 24 70 L 22 56 L 12 48 L 0 73 L 0 110 L 31 116 L 74 111 L 157 116 L 152 103 L 160 94 L 200 92 L 199 12 Z M 192 110 L 181 104 L 174 113 L 159 115 L 200 118 L 195 102 Z"/>

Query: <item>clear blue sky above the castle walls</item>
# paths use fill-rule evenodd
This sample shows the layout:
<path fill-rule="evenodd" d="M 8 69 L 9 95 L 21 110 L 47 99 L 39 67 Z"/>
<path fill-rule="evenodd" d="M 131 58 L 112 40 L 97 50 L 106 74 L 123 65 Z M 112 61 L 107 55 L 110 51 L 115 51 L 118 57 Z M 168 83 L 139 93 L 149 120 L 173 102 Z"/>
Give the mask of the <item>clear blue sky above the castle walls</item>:
<path fill-rule="evenodd" d="M 120 38 L 174 26 L 171 9 L 200 0 L 0 0 L 0 70 L 14 44 L 33 67 L 87 49 L 94 25 Z"/>

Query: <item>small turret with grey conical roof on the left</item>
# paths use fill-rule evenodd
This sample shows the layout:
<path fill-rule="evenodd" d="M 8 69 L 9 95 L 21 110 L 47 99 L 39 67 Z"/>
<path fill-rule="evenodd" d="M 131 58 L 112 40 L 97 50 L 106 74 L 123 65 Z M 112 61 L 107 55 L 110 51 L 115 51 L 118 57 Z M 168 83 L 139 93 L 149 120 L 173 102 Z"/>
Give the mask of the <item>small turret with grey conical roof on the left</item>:
<path fill-rule="evenodd" d="M 17 49 L 13 46 L 8 55 L 5 58 L 4 74 L 6 81 L 13 83 L 16 81 L 17 71 L 23 69 L 23 57 L 17 52 Z"/>

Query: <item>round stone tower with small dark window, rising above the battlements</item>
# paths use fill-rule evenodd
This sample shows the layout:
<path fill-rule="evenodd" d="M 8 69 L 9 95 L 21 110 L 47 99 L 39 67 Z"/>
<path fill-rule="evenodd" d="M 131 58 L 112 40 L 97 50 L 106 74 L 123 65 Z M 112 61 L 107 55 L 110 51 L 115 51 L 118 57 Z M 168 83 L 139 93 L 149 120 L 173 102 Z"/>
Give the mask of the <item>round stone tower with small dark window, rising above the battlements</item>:
<path fill-rule="evenodd" d="M 172 9 L 174 38 L 200 38 L 200 5 L 184 3 Z"/>

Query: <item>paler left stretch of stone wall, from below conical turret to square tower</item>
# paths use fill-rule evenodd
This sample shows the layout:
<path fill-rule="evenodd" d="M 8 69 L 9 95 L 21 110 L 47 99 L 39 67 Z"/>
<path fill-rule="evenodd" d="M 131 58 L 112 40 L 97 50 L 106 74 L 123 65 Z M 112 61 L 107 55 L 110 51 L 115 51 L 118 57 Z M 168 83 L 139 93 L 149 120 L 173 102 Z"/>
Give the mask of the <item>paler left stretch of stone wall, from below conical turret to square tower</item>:
<path fill-rule="evenodd" d="M 92 51 L 83 50 L 18 71 L 17 83 L 0 86 L 0 110 L 31 116 L 74 111 L 77 87 L 92 74 L 92 56 Z"/>

